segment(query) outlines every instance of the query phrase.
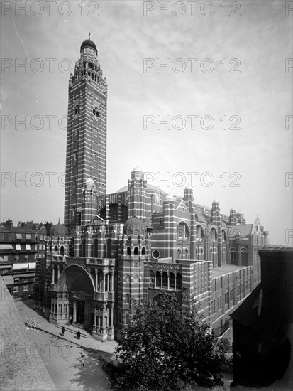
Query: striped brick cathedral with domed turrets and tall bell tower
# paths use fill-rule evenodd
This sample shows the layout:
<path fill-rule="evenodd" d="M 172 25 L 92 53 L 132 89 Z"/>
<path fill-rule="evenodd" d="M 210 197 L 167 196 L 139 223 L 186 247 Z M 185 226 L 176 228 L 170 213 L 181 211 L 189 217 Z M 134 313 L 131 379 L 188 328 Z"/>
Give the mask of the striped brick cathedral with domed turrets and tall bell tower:
<path fill-rule="evenodd" d="M 196 299 L 219 335 L 229 314 L 260 283 L 258 250 L 268 232 L 233 208 L 194 201 L 192 188 L 166 194 L 133 168 L 125 187 L 106 193 L 107 81 L 95 43 L 85 40 L 69 80 L 64 225 L 50 228 L 37 262 L 35 305 L 51 323 L 112 341 L 133 303 L 175 295 Z M 45 230 L 44 230 L 45 232 Z M 43 232 L 43 234 L 44 234 Z"/>

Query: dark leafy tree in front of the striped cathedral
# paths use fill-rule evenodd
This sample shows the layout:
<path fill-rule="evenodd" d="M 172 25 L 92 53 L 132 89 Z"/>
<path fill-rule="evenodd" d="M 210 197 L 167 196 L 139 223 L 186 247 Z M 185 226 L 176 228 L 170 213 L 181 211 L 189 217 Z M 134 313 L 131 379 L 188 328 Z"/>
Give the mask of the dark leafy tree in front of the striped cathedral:
<path fill-rule="evenodd" d="M 192 304 L 182 312 L 175 296 L 136 306 L 116 348 L 116 388 L 179 390 L 190 382 L 212 387 L 223 384 L 224 350 Z"/>

